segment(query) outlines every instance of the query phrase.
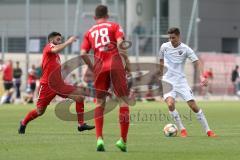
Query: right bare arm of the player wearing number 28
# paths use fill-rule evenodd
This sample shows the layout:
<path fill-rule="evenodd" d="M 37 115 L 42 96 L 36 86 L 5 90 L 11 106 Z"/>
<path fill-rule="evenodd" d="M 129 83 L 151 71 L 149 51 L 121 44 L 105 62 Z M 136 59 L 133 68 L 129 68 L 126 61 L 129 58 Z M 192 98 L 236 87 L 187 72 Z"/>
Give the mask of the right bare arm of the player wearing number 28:
<path fill-rule="evenodd" d="M 128 74 L 130 74 L 131 73 L 131 67 L 130 67 L 130 61 L 129 61 L 129 58 L 128 58 L 128 52 L 127 52 L 126 49 L 122 49 L 121 46 L 123 45 L 123 43 L 124 43 L 124 39 L 122 37 L 117 39 L 117 46 L 119 48 L 121 56 L 124 58 L 125 63 L 126 63 L 125 70 Z"/>

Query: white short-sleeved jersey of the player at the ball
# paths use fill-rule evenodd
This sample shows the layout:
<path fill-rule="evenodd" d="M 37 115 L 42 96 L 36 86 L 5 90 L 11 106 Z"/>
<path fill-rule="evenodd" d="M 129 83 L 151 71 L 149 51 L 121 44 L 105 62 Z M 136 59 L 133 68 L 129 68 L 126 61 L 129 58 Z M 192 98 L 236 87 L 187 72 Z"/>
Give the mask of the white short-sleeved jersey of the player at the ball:
<path fill-rule="evenodd" d="M 192 62 L 198 60 L 194 51 L 184 43 L 176 48 L 172 46 L 171 42 L 163 43 L 159 51 L 159 57 L 164 59 L 164 66 L 167 67 L 163 80 L 173 84 L 186 82 L 184 65 L 187 58 Z"/>

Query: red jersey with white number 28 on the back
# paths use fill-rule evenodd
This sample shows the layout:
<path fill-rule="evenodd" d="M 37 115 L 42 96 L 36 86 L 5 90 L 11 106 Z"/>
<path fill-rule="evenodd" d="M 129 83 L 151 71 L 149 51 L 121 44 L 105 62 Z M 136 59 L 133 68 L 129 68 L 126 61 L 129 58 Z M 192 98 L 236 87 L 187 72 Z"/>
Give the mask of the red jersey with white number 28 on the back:
<path fill-rule="evenodd" d="M 116 64 L 119 58 L 114 62 L 113 56 L 119 55 L 117 49 L 117 39 L 123 38 L 124 33 L 121 26 L 114 22 L 103 21 L 93 25 L 84 35 L 81 49 L 89 52 L 94 51 L 95 68 L 101 61 L 102 71 L 110 70 L 112 64 Z M 99 69 L 99 68 L 98 68 Z"/>

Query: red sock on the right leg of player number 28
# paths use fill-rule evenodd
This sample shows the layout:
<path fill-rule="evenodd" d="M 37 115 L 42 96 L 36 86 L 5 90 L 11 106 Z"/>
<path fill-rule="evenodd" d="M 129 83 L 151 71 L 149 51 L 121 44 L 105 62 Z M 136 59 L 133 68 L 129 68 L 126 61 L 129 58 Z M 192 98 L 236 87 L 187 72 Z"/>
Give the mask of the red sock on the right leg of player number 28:
<path fill-rule="evenodd" d="M 122 140 L 127 142 L 127 134 L 129 128 L 129 107 L 121 106 L 119 109 L 119 124 L 121 129 Z"/>

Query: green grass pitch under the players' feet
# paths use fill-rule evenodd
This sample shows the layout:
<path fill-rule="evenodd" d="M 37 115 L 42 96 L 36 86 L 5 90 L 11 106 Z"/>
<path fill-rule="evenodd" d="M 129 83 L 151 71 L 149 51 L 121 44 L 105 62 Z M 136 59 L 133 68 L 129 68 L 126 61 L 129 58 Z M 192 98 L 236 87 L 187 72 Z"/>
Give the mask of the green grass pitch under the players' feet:
<path fill-rule="evenodd" d="M 88 107 L 89 104 L 86 106 Z M 165 104 L 137 103 L 131 108 L 128 152 L 115 147 L 119 138 L 118 110 L 105 116 L 104 141 L 106 152 L 96 152 L 95 131 L 79 133 L 76 122 L 59 120 L 54 105 L 45 115 L 29 123 L 25 135 L 18 135 L 19 120 L 34 105 L 0 106 L 1 160 L 102 160 L 102 159 L 240 159 L 240 103 L 199 102 L 210 127 L 218 135 L 208 138 L 195 115 L 185 103 L 176 104 L 189 137 L 165 137 L 162 129 L 170 123 Z M 72 106 L 74 111 L 74 106 Z M 88 121 L 93 124 L 93 121 Z"/>

